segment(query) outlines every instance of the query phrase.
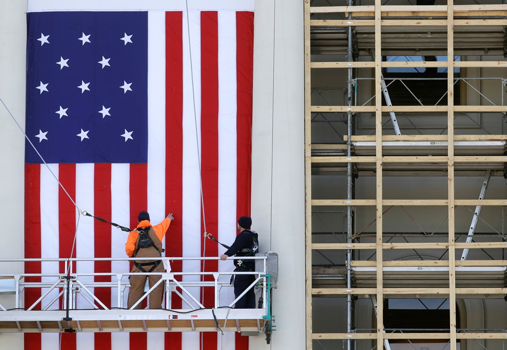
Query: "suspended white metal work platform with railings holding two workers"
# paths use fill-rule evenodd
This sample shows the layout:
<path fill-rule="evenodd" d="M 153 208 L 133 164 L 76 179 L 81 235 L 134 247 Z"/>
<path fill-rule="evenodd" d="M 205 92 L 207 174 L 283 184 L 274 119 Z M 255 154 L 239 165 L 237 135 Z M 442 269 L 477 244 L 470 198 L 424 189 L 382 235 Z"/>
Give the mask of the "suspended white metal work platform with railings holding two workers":
<path fill-rule="evenodd" d="M 219 258 L 162 259 L 169 272 L 163 273 L 162 279 L 153 287 L 148 288 L 147 283 L 144 295 L 130 309 L 126 307 L 130 287 L 128 279 L 137 274 L 82 271 L 82 266 L 93 266 L 99 261 L 123 262 L 128 266 L 129 259 L 1 259 L 0 263 L 10 266 L 30 262 L 49 263 L 61 266 L 61 271 L 59 274 L 0 274 L 0 334 L 198 331 L 241 332 L 248 336 L 265 333 L 266 339 L 270 340 L 274 322 L 274 316 L 271 315 L 271 289 L 276 288 L 277 274 L 275 253 L 267 252 L 250 257 L 249 259 L 256 260 L 256 271 L 251 272 L 182 273 L 171 271 L 170 262 Z M 136 258 L 137 260 L 153 258 Z M 76 272 L 78 265 L 79 272 Z M 255 281 L 234 298 L 231 277 L 237 275 L 253 275 Z M 161 309 L 134 309 L 138 303 L 146 302 L 150 293 L 160 284 L 164 285 Z M 259 301 L 258 308 L 234 308 L 236 302 L 252 289 Z M 204 292 L 213 296 L 212 304 L 202 302 L 200 296 Z M 28 299 L 35 301 L 27 302 Z"/>

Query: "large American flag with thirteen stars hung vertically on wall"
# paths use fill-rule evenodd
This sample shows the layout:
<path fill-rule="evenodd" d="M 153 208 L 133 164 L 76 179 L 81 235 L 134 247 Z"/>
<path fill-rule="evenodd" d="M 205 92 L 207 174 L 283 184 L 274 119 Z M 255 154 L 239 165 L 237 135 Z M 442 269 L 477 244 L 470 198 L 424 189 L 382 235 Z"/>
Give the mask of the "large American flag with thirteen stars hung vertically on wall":
<path fill-rule="evenodd" d="M 124 7 L 112 9 L 115 3 Z M 48 166 L 27 143 L 26 258 L 70 257 L 75 233 L 74 257 L 125 257 L 125 232 L 79 216 L 67 193 L 79 209 L 130 227 L 141 210 L 153 224 L 174 213 L 166 256 L 219 256 L 225 249 L 205 243 L 204 221 L 207 232 L 230 244 L 237 218 L 250 212 L 253 2 L 191 2 L 188 12 L 185 4 L 139 11 L 124 3 L 80 11 L 84 2 L 51 8 L 45 6 L 63 3 L 29 1 L 26 134 Z M 202 270 L 198 261 L 171 267 Z M 205 265 L 208 271 L 232 268 L 229 262 Z M 53 262 L 25 266 L 26 273 L 62 270 Z M 81 262 L 77 271 L 125 272 L 129 264 Z M 111 290 L 96 288 L 95 294 L 116 305 Z M 25 305 L 40 295 L 27 292 Z M 198 289 L 195 296 L 201 298 Z M 232 301 L 232 291 L 223 297 Z M 211 305 L 212 295 L 201 302 Z M 79 306 L 87 307 L 83 300 Z M 173 300 L 172 307 L 181 305 Z M 26 349 L 56 349 L 59 342 L 59 334 L 25 335 Z M 61 335 L 62 349 L 222 347 L 247 348 L 247 337 Z"/>

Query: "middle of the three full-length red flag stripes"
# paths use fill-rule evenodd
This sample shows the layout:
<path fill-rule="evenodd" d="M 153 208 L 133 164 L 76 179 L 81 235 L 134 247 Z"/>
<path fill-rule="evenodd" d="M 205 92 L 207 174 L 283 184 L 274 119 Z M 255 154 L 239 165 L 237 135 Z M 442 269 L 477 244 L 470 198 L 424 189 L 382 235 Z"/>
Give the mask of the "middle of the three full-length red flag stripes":
<path fill-rule="evenodd" d="M 206 231 L 215 237 L 218 237 L 219 228 L 218 46 L 218 13 L 203 11 L 201 12 L 201 169 L 205 217 L 201 220 L 201 225 L 204 232 L 206 219 Z M 218 245 L 201 238 L 201 256 L 218 256 Z M 218 271 L 218 261 L 205 261 L 204 270 Z M 212 276 L 206 276 L 205 281 L 214 279 Z M 215 306 L 213 288 L 204 288 L 203 305 Z M 204 332 L 201 341 L 203 343 L 201 348 L 216 350 L 217 333 Z"/>

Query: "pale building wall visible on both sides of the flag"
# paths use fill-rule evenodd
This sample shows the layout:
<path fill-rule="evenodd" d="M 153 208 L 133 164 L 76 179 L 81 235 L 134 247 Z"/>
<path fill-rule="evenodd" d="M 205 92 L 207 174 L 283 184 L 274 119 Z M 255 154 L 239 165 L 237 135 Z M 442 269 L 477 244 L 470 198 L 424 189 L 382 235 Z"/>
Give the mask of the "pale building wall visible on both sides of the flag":
<path fill-rule="evenodd" d="M 272 346 L 304 348 L 304 152 L 303 152 L 303 3 L 258 0 L 255 10 L 253 79 L 252 218 L 262 250 L 279 254 L 280 277 L 273 292 L 277 331 Z M 0 98 L 24 127 L 26 2 L 0 2 Z M 24 139 L 0 105 L 0 171 L 4 223 L 23 237 Z M 9 242 L 2 257 L 22 258 L 24 242 Z M 22 264 L 2 264 L 1 273 L 21 273 Z M 12 298 L 0 296 L 9 306 Z M 20 334 L 0 334 L 2 348 L 23 348 Z M 269 348 L 264 336 L 250 348 Z"/>

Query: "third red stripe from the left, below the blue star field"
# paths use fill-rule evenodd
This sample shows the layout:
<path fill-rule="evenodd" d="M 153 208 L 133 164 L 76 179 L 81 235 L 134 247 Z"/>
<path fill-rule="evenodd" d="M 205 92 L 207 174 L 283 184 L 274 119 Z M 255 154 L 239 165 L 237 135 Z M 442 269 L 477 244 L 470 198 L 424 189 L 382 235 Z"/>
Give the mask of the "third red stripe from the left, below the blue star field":
<path fill-rule="evenodd" d="M 93 178 L 94 214 L 111 222 L 111 164 L 95 164 Z M 94 220 L 93 231 L 95 257 L 111 258 L 111 226 Z M 96 273 L 111 272 L 111 261 L 95 261 L 94 269 Z M 111 282 L 111 277 L 95 276 L 95 282 Z M 95 288 L 95 295 L 105 306 L 111 307 L 111 288 Z M 110 350 L 111 333 L 95 333 L 95 344 L 100 349 Z"/>

